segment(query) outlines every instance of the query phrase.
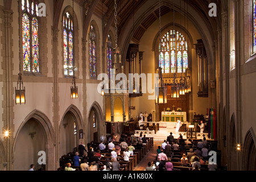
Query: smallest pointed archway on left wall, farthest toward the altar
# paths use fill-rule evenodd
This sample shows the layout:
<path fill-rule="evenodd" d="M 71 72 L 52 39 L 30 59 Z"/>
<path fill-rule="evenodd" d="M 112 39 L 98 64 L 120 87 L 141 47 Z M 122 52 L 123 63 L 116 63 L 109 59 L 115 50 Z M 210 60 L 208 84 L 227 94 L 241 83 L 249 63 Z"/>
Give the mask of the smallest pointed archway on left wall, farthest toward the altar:
<path fill-rule="evenodd" d="M 88 115 L 87 142 L 99 142 L 101 135 L 106 137 L 104 117 L 100 105 L 94 102 Z"/>

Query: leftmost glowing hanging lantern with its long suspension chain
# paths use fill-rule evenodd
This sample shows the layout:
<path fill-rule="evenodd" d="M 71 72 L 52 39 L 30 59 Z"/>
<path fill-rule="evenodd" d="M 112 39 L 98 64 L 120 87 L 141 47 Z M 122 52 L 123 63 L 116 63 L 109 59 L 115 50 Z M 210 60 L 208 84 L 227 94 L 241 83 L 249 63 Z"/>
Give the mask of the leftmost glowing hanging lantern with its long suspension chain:
<path fill-rule="evenodd" d="M 20 22 L 19 22 L 19 31 L 20 31 Z M 19 36 L 19 44 L 20 44 L 20 36 Z M 22 81 L 21 63 L 20 63 L 20 45 L 19 45 L 19 74 L 18 74 L 17 87 L 15 86 L 15 104 L 20 104 L 20 105 L 26 104 L 25 92 L 26 90 L 25 90 L 25 87 L 23 86 L 23 81 Z"/>

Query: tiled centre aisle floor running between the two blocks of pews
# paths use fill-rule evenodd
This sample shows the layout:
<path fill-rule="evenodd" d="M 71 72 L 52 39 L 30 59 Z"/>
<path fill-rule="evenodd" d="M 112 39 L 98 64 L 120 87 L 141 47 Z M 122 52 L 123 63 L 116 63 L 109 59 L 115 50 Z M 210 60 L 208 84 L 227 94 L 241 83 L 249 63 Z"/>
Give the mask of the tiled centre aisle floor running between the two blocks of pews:
<path fill-rule="evenodd" d="M 158 149 L 158 146 L 163 142 L 154 142 L 154 146 L 150 149 L 150 151 L 147 152 L 147 155 L 144 156 L 144 158 L 137 164 L 137 166 L 134 168 L 134 171 L 144 171 L 147 167 L 148 162 L 152 162 L 157 153 L 156 149 Z"/>

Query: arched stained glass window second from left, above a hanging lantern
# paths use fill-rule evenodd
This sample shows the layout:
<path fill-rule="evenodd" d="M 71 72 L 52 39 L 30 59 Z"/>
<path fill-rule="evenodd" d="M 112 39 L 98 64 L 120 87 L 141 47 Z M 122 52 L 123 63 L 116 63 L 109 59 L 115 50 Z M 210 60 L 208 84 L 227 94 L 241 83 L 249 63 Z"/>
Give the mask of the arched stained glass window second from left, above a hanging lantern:
<path fill-rule="evenodd" d="M 74 75 L 73 17 L 67 12 L 63 16 L 64 75 Z"/>

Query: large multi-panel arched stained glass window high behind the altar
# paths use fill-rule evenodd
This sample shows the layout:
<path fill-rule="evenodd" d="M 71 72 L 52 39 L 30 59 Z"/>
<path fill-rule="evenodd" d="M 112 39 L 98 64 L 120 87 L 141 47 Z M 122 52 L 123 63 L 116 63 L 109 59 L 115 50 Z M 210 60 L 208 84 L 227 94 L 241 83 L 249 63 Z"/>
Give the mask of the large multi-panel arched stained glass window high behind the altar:
<path fill-rule="evenodd" d="M 188 44 L 180 32 L 170 30 L 161 38 L 159 67 L 163 73 L 184 73 L 188 68 Z"/>

